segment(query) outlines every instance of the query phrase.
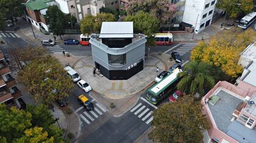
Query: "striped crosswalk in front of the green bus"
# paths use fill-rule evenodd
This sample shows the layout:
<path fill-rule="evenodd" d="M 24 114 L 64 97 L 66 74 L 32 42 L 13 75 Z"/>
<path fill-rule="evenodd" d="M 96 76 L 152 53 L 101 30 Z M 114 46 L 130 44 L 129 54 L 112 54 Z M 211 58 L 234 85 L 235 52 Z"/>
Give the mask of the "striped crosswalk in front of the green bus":
<path fill-rule="evenodd" d="M 137 104 L 130 110 L 130 112 L 132 112 L 134 115 L 137 115 L 138 118 L 140 118 L 141 121 L 145 121 L 146 124 L 149 124 L 153 120 L 153 116 L 151 116 L 153 111 L 151 111 L 146 107 L 146 105 L 143 105 L 142 103 Z"/>

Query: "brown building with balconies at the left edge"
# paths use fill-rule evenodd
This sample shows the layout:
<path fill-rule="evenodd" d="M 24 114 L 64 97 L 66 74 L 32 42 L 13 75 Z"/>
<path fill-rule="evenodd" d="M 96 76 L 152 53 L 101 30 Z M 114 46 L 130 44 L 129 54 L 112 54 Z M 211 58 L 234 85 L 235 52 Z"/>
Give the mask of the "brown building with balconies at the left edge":
<path fill-rule="evenodd" d="M 23 107 L 21 91 L 16 86 L 12 71 L 5 62 L 2 52 L 0 52 L 0 75 L 0 104 L 5 104 L 7 107 Z"/>

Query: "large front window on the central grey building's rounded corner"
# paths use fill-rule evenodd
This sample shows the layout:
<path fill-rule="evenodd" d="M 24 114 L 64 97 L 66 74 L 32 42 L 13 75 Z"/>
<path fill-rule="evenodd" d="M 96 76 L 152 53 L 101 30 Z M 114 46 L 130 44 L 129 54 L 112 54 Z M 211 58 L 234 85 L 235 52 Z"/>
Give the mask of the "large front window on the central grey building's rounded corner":
<path fill-rule="evenodd" d="M 108 64 L 110 64 L 110 65 L 125 65 L 126 64 L 126 54 L 123 54 L 123 55 L 108 54 Z"/>

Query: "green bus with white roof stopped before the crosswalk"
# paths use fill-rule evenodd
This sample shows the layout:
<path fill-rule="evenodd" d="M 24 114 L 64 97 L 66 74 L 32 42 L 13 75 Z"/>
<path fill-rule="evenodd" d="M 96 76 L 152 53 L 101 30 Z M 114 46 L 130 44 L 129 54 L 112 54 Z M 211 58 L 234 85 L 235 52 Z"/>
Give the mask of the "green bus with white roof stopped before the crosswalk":
<path fill-rule="evenodd" d="M 165 99 L 166 96 L 170 95 L 171 91 L 176 89 L 176 85 L 179 82 L 177 78 L 178 73 L 182 72 L 179 68 L 176 68 L 172 73 L 162 81 L 157 82 L 147 91 L 146 99 L 152 104 L 158 104 L 162 99 Z"/>

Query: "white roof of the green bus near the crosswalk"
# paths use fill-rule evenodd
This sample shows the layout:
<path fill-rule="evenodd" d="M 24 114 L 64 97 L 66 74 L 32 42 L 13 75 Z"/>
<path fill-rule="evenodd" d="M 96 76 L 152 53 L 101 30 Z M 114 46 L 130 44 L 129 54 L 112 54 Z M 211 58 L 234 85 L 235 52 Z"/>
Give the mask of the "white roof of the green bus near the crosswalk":
<path fill-rule="evenodd" d="M 182 72 L 179 68 L 176 68 L 171 75 L 167 76 L 165 79 L 159 82 L 154 88 L 151 89 L 154 93 L 158 93 L 158 91 L 162 90 L 163 87 L 168 85 L 170 82 L 172 82 L 174 79 L 177 78 L 178 73 Z"/>

